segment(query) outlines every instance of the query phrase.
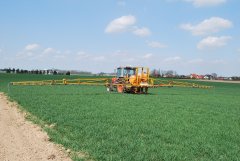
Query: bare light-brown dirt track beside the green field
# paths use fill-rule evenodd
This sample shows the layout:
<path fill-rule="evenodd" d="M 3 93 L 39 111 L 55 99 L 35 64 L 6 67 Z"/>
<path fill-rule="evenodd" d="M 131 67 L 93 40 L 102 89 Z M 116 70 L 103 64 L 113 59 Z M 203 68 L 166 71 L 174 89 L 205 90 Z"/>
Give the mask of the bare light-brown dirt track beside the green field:
<path fill-rule="evenodd" d="M 26 121 L 16 105 L 0 93 L 1 161 L 71 161 L 40 127 Z"/>

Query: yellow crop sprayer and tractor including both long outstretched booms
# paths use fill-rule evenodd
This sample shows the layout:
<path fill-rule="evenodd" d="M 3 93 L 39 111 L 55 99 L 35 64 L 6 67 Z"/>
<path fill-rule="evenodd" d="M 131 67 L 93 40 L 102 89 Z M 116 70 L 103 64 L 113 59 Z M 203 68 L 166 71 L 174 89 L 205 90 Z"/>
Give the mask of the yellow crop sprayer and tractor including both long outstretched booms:
<path fill-rule="evenodd" d="M 113 78 L 79 78 L 62 80 L 11 82 L 11 85 L 104 85 L 108 92 L 118 93 L 148 93 L 149 88 L 157 87 L 193 87 L 211 88 L 211 86 L 179 81 L 163 81 L 150 78 L 147 67 L 118 67 Z"/>

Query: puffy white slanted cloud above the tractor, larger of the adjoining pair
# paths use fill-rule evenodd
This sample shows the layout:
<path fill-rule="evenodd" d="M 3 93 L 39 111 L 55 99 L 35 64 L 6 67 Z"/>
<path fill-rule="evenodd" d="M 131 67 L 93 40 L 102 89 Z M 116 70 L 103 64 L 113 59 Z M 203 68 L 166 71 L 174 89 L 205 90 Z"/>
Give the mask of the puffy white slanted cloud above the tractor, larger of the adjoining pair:
<path fill-rule="evenodd" d="M 106 33 L 125 32 L 136 23 L 136 18 L 132 15 L 122 16 L 111 21 L 105 29 Z"/>

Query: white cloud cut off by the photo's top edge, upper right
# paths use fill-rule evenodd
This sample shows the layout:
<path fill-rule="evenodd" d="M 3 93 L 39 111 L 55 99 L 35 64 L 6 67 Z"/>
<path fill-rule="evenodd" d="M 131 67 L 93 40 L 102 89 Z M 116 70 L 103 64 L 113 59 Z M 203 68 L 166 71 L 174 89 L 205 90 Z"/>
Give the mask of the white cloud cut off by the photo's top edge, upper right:
<path fill-rule="evenodd" d="M 227 0 L 184 0 L 191 2 L 195 7 L 216 6 L 225 3 Z"/>

